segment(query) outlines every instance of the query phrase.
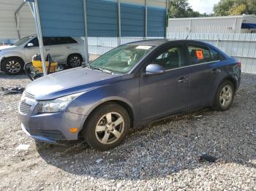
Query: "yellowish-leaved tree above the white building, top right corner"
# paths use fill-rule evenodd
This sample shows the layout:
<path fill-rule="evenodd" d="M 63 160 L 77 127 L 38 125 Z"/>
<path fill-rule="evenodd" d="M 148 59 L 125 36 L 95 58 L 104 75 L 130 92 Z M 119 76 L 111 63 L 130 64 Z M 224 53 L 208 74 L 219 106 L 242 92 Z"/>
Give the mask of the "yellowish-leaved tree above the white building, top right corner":
<path fill-rule="evenodd" d="M 214 5 L 214 15 L 256 15 L 256 0 L 220 0 Z"/>

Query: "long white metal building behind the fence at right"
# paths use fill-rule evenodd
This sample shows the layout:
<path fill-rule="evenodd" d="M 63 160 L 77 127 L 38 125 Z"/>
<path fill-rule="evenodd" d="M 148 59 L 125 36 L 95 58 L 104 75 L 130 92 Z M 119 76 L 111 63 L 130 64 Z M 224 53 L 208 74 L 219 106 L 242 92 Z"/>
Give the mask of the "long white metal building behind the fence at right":
<path fill-rule="evenodd" d="M 255 15 L 171 18 L 168 33 L 244 34 L 256 33 Z"/>

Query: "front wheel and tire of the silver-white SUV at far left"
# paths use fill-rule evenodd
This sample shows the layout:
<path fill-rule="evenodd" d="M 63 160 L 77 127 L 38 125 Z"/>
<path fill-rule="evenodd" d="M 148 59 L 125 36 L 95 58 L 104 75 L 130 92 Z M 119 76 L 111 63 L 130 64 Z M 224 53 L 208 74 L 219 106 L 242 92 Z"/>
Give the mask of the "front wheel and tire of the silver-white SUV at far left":
<path fill-rule="evenodd" d="M 24 62 L 21 58 L 5 58 L 2 62 L 4 73 L 18 75 L 23 72 Z"/>

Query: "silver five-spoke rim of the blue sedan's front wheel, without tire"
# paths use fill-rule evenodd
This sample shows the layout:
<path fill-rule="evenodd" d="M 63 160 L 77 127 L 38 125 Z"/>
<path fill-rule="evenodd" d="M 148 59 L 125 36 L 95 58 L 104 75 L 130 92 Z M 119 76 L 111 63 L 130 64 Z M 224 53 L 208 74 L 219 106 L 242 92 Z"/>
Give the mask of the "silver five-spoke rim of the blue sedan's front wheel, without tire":
<path fill-rule="evenodd" d="M 101 144 L 113 144 L 120 139 L 124 128 L 124 117 L 117 112 L 109 112 L 97 122 L 95 135 Z"/>

